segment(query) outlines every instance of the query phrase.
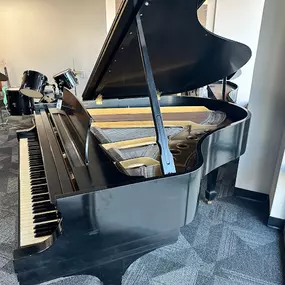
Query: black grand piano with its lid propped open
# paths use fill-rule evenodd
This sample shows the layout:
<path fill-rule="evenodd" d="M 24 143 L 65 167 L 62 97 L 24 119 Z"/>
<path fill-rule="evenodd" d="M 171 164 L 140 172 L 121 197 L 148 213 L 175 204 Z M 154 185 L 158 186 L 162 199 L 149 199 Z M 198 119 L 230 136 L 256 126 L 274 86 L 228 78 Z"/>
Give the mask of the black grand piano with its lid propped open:
<path fill-rule="evenodd" d="M 61 109 L 43 106 L 18 132 L 20 284 L 121 284 L 133 261 L 175 242 L 202 177 L 245 152 L 250 122 L 242 107 L 179 93 L 250 56 L 200 25 L 197 0 L 124 1 L 85 101 L 64 90 Z"/>

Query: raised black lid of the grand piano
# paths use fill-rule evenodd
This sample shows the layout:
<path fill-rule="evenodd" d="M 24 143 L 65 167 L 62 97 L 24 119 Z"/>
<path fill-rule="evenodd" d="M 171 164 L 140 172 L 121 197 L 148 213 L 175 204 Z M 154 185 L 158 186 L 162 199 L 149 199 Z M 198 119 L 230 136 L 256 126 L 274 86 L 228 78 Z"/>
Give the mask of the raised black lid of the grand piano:
<path fill-rule="evenodd" d="M 83 100 L 148 96 L 137 37 L 142 20 L 161 95 L 193 90 L 235 73 L 251 57 L 244 44 L 207 31 L 197 17 L 202 0 L 125 0 L 83 93 Z"/>

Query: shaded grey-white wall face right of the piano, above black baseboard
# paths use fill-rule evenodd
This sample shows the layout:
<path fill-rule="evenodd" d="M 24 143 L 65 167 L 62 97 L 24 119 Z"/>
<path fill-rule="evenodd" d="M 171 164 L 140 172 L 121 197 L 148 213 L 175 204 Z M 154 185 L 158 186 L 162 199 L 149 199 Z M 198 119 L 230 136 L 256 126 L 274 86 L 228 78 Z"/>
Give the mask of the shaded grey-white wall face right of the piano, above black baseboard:
<path fill-rule="evenodd" d="M 252 121 L 236 183 L 240 188 L 269 193 L 271 204 L 279 191 L 285 191 L 275 192 L 285 144 L 284 11 L 284 0 L 266 0 L 249 103 Z M 279 203 L 284 203 L 283 198 Z"/>

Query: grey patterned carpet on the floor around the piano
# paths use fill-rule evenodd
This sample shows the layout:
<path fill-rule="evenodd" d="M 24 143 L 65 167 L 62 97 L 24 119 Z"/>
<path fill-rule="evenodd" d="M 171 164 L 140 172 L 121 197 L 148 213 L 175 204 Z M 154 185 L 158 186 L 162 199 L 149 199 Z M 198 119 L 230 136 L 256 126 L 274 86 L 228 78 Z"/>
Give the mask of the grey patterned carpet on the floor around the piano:
<path fill-rule="evenodd" d="M 0 130 L 1 285 L 18 284 L 11 261 L 17 246 L 17 128 Z M 212 205 L 201 201 L 195 220 L 181 229 L 177 243 L 137 260 L 126 272 L 122 284 L 283 284 L 281 235 L 265 226 L 266 204 L 232 197 L 234 181 L 225 177 L 233 177 L 235 170 L 236 163 L 221 169 L 218 200 Z M 99 283 L 95 277 L 76 276 L 45 284 Z"/>

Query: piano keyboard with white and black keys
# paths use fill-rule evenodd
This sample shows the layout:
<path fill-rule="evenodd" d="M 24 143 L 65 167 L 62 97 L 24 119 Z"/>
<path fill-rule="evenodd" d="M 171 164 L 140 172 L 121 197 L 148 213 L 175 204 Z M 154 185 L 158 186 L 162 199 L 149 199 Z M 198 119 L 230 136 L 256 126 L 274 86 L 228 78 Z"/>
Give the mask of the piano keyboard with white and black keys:
<path fill-rule="evenodd" d="M 35 137 L 19 141 L 20 160 L 20 246 L 48 239 L 59 225 L 50 202 L 39 142 Z"/>

